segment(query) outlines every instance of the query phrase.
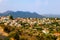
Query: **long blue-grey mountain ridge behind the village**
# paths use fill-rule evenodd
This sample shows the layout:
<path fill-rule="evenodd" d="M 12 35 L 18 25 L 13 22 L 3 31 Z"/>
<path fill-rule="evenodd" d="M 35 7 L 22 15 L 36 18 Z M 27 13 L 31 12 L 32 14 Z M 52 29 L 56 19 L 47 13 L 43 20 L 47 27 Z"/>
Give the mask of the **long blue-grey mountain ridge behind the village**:
<path fill-rule="evenodd" d="M 4 13 L 0 13 L 0 16 L 8 16 L 12 15 L 14 18 L 43 18 L 44 16 L 37 14 L 36 12 L 24 12 L 24 11 L 6 11 Z"/>

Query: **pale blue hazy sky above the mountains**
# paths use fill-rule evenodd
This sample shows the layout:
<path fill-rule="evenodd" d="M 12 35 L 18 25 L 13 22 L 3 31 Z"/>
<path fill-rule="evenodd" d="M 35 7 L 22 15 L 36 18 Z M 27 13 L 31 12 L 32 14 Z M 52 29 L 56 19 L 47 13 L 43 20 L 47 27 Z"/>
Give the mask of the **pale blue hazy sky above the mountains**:
<path fill-rule="evenodd" d="M 60 14 L 60 0 L 0 0 L 0 12 L 7 10 Z"/>

